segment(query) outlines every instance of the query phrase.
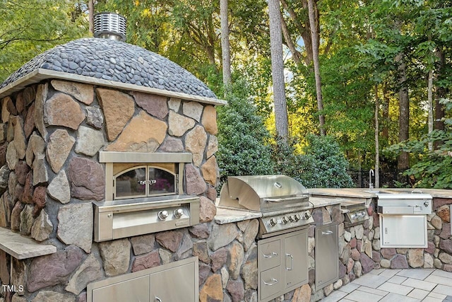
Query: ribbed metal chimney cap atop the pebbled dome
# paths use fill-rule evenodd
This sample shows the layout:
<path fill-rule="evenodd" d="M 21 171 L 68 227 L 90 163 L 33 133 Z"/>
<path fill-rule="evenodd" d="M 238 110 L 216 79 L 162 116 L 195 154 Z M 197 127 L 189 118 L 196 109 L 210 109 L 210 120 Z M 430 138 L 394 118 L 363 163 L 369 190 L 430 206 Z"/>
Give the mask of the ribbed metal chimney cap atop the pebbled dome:
<path fill-rule="evenodd" d="M 125 42 L 126 18 L 118 13 L 96 13 L 94 15 L 94 37 Z"/>

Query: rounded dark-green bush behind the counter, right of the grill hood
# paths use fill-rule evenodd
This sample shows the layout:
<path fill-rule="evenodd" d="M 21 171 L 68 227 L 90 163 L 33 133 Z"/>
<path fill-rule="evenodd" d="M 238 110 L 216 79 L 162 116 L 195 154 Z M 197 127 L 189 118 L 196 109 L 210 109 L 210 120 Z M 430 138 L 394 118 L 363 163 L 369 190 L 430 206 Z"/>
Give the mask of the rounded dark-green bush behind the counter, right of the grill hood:
<path fill-rule="evenodd" d="M 352 187 L 348 163 L 333 137 L 309 135 L 304 154 L 295 154 L 293 143 L 278 141 L 273 150 L 276 170 L 305 187 Z"/>

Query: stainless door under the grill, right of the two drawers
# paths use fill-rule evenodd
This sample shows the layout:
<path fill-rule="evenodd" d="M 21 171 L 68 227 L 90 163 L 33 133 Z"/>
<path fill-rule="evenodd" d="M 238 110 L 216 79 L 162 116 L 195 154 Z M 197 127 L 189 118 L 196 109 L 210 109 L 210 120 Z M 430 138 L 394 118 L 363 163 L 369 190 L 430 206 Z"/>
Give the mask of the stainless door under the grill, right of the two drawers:
<path fill-rule="evenodd" d="M 285 238 L 285 288 L 308 281 L 307 231 Z"/>

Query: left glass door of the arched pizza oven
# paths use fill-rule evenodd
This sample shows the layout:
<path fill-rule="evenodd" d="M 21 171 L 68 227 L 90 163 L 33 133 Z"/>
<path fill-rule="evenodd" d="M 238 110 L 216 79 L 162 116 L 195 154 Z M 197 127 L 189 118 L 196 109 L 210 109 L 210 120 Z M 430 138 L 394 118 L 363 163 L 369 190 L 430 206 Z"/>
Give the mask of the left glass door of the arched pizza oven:
<path fill-rule="evenodd" d="M 114 177 L 114 199 L 145 197 L 146 168 L 124 170 Z"/>

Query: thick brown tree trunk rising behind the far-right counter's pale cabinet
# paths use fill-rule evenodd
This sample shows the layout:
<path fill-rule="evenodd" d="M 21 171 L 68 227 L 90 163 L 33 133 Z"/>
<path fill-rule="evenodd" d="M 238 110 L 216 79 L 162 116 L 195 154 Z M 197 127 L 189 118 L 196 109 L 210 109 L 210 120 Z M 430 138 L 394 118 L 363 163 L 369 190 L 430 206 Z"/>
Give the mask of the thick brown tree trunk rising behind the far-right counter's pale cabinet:
<path fill-rule="evenodd" d="M 398 84 L 400 86 L 398 91 L 399 100 L 399 115 L 398 115 L 398 142 L 409 139 L 410 129 L 410 99 L 408 97 L 407 87 L 407 66 L 404 62 L 404 54 L 400 53 L 396 57 L 398 62 Z M 406 170 L 410 167 L 410 158 L 407 152 L 400 153 L 397 161 L 398 170 Z"/>

